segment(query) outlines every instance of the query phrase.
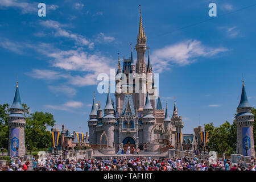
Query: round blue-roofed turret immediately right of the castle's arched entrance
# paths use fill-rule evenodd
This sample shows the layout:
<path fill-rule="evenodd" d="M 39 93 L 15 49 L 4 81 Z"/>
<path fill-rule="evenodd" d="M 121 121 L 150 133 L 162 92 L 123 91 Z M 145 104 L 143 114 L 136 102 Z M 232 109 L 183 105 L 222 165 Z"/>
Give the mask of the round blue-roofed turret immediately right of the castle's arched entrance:
<path fill-rule="evenodd" d="M 147 92 L 146 103 L 143 108 L 142 123 L 143 123 L 143 139 L 144 139 L 144 142 L 147 143 L 152 140 L 151 131 L 155 124 L 155 117 L 153 115 L 153 108 L 150 104 L 150 98 L 149 98 L 148 92 Z"/>

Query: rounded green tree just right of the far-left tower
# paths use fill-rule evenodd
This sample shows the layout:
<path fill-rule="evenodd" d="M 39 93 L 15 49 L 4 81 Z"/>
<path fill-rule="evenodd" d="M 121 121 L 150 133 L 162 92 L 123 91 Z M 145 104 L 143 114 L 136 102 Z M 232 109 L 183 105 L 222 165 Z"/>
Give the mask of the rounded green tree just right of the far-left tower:
<path fill-rule="evenodd" d="M 47 131 L 47 126 L 53 127 L 55 122 L 51 113 L 36 111 L 30 114 L 26 119 L 26 142 L 30 143 L 32 148 L 51 146 L 52 137 L 50 131 Z"/>

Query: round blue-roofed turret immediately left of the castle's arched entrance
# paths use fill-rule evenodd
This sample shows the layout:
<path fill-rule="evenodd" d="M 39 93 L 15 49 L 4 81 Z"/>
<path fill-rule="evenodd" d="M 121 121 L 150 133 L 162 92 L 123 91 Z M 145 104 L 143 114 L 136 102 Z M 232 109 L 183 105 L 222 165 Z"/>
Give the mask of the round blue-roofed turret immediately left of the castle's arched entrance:
<path fill-rule="evenodd" d="M 106 106 L 104 108 L 104 117 L 102 119 L 103 130 L 106 134 L 106 143 L 102 140 L 102 144 L 107 144 L 108 146 L 112 147 L 114 143 L 114 124 L 115 124 L 115 117 L 114 117 L 114 107 L 111 103 L 110 93 L 108 93 L 108 97 L 106 100 Z"/>

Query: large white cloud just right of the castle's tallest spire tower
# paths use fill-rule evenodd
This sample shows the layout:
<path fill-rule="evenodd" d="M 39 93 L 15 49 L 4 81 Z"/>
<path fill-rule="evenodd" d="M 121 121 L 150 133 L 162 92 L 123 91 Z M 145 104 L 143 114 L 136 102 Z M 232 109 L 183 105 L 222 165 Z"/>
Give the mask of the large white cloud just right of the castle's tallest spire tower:
<path fill-rule="evenodd" d="M 210 57 L 220 52 L 228 51 L 226 48 L 212 48 L 204 46 L 199 40 L 186 40 L 152 52 L 152 62 L 156 72 L 162 72 L 170 64 L 179 66 L 194 63 L 199 57 Z"/>

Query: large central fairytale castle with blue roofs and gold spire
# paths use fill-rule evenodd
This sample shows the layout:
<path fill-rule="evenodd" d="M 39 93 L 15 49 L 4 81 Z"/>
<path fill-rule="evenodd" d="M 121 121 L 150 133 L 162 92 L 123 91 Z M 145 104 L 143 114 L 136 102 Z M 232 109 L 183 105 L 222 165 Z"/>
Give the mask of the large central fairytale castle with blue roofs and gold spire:
<path fill-rule="evenodd" d="M 114 101 L 108 93 L 106 105 L 104 107 L 104 116 L 102 115 L 102 106 L 100 102 L 96 103 L 93 98 L 92 111 L 89 115 L 89 143 L 94 148 L 100 145 L 105 148 L 115 148 L 118 144 L 126 146 L 146 147 L 147 151 L 164 150 L 163 147 L 170 148 L 175 146 L 175 133 L 182 133 L 184 123 L 182 117 L 177 114 L 176 103 L 172 117 L 166 109 L 162 107 L 159 93 L 157 92 L 155 81 L 152 79 L 152 64 L 148 51 L 147 64 L 145 53 L 147 50 L 147 37 L 142 25 L 142 16 L 140 10 L 139 34 L 137 36 L 137 61 L 134 63 L 133 48 L 129 59 L 123 58 L 123 67 L 121 69 L 120 59 L 118 57 L 118 66 L 115 77 L 116 89 L 126 90 L 118 93 L 115 90 Z M 119 74 L 124 74 L 128 78 L 133 76 L 133 84 L 122 85 L 122 78 Z M 135 92 L 136 76 L 139 76 L 139 90 Z M 151 75 L 151 77 L 148 77 Z M 144 85 L 144 86 L 143 86 Z M 130 87 L 130 88 L 129 88 Z M 146 88 L 146 92 L 143 89 Z M 154 89 L 149 93 L 149 89 Z M 128 92 L 128 90 L 133 92 Z M 151 99 L 150 99 L 151 98 Z M 154 98 L 154 99 L 152 99 Z M 157 101 L 156 99 L 157 98 Z M 181 135 L 180 135 L 181 136 Z M 180 143 L 182 138 L 180 137 Z M 192 141 L 191 141 L 192 142 Z"/>

